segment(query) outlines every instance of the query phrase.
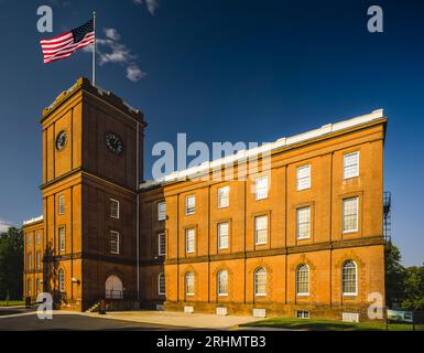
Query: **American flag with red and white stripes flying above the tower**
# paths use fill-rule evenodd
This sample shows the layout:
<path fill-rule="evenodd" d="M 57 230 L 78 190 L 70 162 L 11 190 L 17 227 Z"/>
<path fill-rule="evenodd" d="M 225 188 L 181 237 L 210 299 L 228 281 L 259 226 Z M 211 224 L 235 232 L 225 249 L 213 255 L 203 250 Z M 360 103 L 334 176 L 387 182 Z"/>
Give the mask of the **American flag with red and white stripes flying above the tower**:
<path fill-rule="evenodd" d="M 50 40 L 41 40 L 44 64 L 72 55 L 95 42 L 94 20 Z"/>

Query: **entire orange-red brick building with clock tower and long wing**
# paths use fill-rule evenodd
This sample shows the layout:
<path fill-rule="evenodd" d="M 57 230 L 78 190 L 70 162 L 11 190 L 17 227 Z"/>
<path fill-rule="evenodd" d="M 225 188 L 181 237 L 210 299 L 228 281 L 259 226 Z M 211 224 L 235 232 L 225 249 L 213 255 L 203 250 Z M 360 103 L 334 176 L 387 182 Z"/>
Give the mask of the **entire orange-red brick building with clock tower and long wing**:
<path fill-rule="evenodd" d="M 41 124 L 25 297 L 338 318 L 384 298 L 382 110 L 153 181 L 142 180 L 143 115 L 87 79 Z"/>

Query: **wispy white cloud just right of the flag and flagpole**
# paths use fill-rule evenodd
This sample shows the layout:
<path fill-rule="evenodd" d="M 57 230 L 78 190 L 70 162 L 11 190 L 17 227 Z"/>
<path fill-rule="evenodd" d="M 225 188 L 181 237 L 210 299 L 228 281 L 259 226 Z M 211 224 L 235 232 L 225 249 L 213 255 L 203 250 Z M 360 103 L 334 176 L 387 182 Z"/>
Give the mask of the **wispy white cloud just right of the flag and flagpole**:
<path fill-rule="evenodd" d="M 99 57 L 99 65 L 118 64 L 126 66 L 127 78 L 131 82 L 138 82 L 145 77 L 146 73 L 142 72 L 137 65 L 137 55 L 123 43 L 120 42 L 121 35 L 116 29 L 104 29 L 106 39 L 96 39 L 96 54 Z M 93 52 L 93 45 L 84 49 L 86 52 Z"/>

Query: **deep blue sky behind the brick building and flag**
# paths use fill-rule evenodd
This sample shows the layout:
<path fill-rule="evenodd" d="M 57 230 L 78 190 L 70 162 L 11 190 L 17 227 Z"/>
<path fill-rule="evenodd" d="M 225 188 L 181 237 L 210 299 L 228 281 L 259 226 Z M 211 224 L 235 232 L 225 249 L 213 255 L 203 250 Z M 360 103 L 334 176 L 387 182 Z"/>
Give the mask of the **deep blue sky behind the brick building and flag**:
<path fill-rule="evenodd" d="M 42 4 L 53 8 L 53 34 L 36 31 Z M 367 31 L 371 4 L 383 9 L 383 33 Z M 0 0 L 0 224 L 42 213 L 41 111 L 90 77 L 88 53 L 44 66 L 39 40 L 83 24 L 94 9 L 104 40 L 97 81 L 144 111 L 146 170 L 153 143 L 175 142 L 177 132 L 207 143 L 272 141 L 384 108 L 392 235 L 404 264 L 423 263 L 418 0 Z"/>

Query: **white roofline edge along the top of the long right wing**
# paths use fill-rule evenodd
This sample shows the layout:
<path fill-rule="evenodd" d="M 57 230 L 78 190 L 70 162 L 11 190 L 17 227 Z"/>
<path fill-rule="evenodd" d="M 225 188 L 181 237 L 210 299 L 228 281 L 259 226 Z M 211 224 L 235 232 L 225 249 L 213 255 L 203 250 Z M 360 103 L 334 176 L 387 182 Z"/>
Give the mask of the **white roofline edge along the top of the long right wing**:
<path fill-rule="evenodd" d="M 372 121 L 377 121 L 384 118 L 383 109 L 377 109 L 369 114 L 354 117 L 347 120 L 341 120 L 334 124 L 323 125 L 318 129 L 309 130 L 298 135 L 291 136 L 289 138 L 280 138 L 274 142 L 268 142 L 260 147 L 241 150 L 235 154 L 227 156 L 224 158 L 216 159 L 214 161 L 206 161 L 200 165 L 184 169 L 182 171 L 172 172 L 161 179 L 149 180 L 139 184 L 139 190 L 148 190 L 155 186 L 164 185 L 166 183 L 186 181 L 188 176 L 205 173 L 214 168 L 225 165 L 227 163 L 233 163 L 246 158 L 252 158 L 264 152 L 273 152 L 284 147 L 294 147 L 305 141 L 311 141 L 319 137 L 329 136 L 330 133 L 348 130 L 355 127 L 360 127 Z M 385 129 L 384 129 L 385 130 Z"/>

